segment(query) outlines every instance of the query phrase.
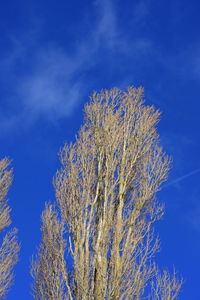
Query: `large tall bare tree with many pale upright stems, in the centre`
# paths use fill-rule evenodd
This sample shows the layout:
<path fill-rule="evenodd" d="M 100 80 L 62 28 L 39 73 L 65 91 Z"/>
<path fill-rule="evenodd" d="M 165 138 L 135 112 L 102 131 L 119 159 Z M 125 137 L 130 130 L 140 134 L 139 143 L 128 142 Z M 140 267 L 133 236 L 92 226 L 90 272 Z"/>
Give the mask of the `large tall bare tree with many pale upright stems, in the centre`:
<path fill-rule="evenodd" d="M 152 225 L 163 214 L 156 192 L 170 167 L 159 145 L 159 118 L 158 110 L 144 105 L 142 88 L 93 93 L 75 143 L 60 154 L 55 189 L 61 221 L 46 208 L 45 251 L 33 264 L 36 299 L 176 298 L 181 281 L 159 275 L 154 262 L 159 241 Z M 71 268 L 60 246 L 67 239 Z M 54 257 L 56 268 L 43 263 L 47 257 Z M 54 274 L 60 278 L 55 289 Z"/>

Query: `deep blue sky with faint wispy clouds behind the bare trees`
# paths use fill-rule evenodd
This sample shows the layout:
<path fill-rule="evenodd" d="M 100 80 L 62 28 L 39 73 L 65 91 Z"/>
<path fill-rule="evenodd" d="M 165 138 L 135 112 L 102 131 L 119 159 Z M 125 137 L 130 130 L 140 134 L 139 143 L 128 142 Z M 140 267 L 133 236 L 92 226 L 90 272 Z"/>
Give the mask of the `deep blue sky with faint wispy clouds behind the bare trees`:
<path fill-rule="evenodd" d="M 197 0 L 2 1 L 1 157 L 13 161 L 9 201 L 22 246 L 8 299 L 32 299 L 40 214 L 84 103 L 93 90 L 128 85 L 144 86 L 146 103 L 163 112 L 161 142 L 173 156 L 158 194 L 166 214 L 157 260 L 185 279 L 180 299 L 199 299 L 199 10 Z"/>

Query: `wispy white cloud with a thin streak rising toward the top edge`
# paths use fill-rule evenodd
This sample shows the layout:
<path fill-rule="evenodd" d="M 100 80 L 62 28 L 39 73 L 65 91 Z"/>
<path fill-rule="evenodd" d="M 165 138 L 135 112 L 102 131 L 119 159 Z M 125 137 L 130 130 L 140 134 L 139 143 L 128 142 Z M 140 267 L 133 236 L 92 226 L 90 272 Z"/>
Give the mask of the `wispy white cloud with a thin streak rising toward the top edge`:
<path fill-rule="evenodd" d="M 23 106 L 32 116 L 44 115 L 51 120 L 69 116 L 82 100 L 87 85 L 83 73 L 95 64 L 101 43 L 113 48 L 118 40 L 111 2 L 105 3 L 96 3 L 99 20 L 87 37 L 80 39 L 73 54 L 54 45 L 35 55 L 35 67 L 18 87 Z"/>

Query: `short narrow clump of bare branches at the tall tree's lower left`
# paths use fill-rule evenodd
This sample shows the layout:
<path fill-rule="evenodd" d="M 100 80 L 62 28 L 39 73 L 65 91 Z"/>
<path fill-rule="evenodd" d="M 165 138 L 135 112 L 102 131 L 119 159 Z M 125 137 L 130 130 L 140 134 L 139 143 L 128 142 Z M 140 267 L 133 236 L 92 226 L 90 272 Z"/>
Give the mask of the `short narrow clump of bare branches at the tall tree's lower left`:
<path fill-rule="evenodd" d="M 41 231 L 42 244 L 31 270 L 35 279 L 33 296 L 40 300 L 68 299 L 70 289 L 64 258 L 64 224 L 59 221 L 52 205 L 46 205 Z"/>

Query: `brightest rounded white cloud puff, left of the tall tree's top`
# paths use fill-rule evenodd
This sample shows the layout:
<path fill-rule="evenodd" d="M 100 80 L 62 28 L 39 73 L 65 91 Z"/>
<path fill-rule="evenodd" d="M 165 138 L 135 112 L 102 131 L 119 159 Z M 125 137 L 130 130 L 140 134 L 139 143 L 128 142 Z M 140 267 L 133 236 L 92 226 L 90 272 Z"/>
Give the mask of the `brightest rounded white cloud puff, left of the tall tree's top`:
<path fill-rule="evenodd" d="M 25 109 L 33 117 L 50 120 L 71 115 L 81 98 L 81 82 L 73 80 L 79 68 L 77 56 L 69 57 L 59 49 L 41 51 L 32 73 L 18 87 Z"/>

